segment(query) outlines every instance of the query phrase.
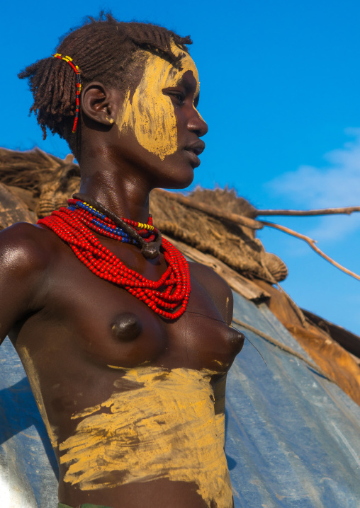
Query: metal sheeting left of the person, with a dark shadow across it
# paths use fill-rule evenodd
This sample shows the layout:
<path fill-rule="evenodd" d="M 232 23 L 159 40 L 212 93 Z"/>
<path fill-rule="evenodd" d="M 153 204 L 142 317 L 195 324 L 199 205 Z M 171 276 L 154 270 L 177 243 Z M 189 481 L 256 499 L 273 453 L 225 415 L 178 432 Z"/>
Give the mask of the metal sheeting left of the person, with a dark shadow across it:
<path fill-rule="evenodd" d="M 56 508 L 57 463 L 23 366 L 0 347 L 0 507 Z"/>

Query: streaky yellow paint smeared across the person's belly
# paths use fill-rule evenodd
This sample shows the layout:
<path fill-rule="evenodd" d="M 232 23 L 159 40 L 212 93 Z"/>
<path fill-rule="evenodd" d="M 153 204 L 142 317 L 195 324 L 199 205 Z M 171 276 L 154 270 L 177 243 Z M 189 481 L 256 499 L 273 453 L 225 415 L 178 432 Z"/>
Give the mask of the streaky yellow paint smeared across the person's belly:
<path fill-rule="evenodd" d="M 212 371 L 124 369 L 108 400 L 75 413 L 74 435 L 59 446 L 64 481 L 81 490 L 159 478 L 196 483 L 210 508 L 232 505 L 224 415 L 215 416 Z M 114 474 L 115 473 L 115 474 Z"/>

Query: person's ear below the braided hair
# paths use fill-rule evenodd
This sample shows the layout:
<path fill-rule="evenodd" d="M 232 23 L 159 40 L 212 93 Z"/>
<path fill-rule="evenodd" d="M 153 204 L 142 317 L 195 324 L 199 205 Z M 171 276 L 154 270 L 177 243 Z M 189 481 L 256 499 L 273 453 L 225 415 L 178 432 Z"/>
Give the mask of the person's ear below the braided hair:
<path fill-rule="evenodd" d="M 80 95 L 84 122 L 87 117 L 98 124 L 111 126 L 116 120 L 121 96 L 123 94 L 120 91 L 97 81 L 84 86 Z"/>

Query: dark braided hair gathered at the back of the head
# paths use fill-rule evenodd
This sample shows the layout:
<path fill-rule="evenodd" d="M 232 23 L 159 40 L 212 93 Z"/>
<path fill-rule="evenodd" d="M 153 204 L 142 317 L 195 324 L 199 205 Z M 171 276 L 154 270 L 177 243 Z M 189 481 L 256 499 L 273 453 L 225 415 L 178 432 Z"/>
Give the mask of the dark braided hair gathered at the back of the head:
<path fill-rule="evenodd" d="M 106 86 L 125 90 L 133 85 L 132 64 L 139 50 L 154 52 L 179 67 L 183 55 L 176 56 L 171 51 L 172 41 L 188 52 L 189 36 L 180 37 L 150 23 L 118 22 L 111 14 L 101 13 L 98 19 L 89 16 L 84 25 L 64 35 L 56 52 L 74 59 L 83 85 L 101 81 Z M 49 56 L 26 67 L 18 77 L 29 81 L 34 98 L 30 113 L 37 115 L 43 139 L 48 128 L 66 139 L 77 156 L 81 126 L 72 133 L 77 93 L 77 75 L 73 69 L 61 59 Z"/>

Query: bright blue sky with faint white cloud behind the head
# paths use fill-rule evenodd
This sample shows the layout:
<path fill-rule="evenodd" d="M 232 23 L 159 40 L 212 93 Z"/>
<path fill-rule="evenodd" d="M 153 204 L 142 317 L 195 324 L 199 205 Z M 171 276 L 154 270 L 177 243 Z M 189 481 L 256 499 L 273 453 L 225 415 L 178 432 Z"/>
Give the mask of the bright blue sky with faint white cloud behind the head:
<path fill-rule="evenodd" d="M 260 209 L 360 205 L 360 3 L 353 0 L 8 2 L 0 21 L 0 146 L 69 152 L 52 135 L 43 142 L 16 74 L 102 8 L 193 38 L 198 109 L 209 125 L 193 185 L 230 185 Z M 360 272 L 360 214 L 271 220 L 312 236 Z M 259 238 L 288 265 L 283 287 L 300 306 L 360 335 L 359 281 L 284 233 L 265 229 Z"/>

